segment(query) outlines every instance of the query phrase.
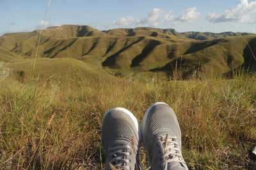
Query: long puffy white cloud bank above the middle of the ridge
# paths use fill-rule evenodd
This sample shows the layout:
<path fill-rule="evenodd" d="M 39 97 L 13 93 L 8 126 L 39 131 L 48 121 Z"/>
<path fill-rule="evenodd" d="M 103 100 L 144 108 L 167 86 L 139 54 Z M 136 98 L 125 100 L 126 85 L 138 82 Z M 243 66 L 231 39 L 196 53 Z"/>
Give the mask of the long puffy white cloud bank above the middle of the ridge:
<path fill-rule="evenodd" d="M 179 17 L 171 15 L 172 11 L 164 13 L 164 10 L 154 8 L 145 18 L 134 18 L 132 16 L 121 18 L 113 21 L 112 25 L 132 26 L 132 25 L 152 25 L 157 26 L 161 22 L 191 22 L 196 20 L 200 13 L 196 12 L 196 8 L 189 8 Z"/>

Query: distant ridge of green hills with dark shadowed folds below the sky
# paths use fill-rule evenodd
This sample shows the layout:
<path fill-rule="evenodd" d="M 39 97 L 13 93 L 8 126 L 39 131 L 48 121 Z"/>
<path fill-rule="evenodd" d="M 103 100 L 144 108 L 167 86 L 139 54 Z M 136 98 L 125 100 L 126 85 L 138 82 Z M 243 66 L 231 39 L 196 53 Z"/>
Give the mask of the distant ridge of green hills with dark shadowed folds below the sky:
<path fill-rule="evenodd" d="M 61 25 L 44 29 L 37 48 L 39 32 L 1 36 L 0 60 L 21 62 L 15 66 L 22 67 L 38 51 L 37 57 L 49 58 L 47 62 L 72 58 L 115 75 L 157 72 L 168 77 L 179 71 L 184 78 L 195 72 L 217 76 L 239 67 L 251 71 L 256 67 L 256 35 L 250 33 L 180 33 L 151 27 L 99 31 L 86 25 Z M 44 67 L 47 70 L 47 64 Z"/>

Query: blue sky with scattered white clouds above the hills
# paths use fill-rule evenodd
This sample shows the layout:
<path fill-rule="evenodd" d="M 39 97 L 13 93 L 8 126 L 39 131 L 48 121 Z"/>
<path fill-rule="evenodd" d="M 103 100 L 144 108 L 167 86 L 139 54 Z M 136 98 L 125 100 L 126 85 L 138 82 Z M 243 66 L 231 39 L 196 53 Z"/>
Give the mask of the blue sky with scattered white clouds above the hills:
<path fill-rule="evenodd" d="M 63 24 L 256 33 L 256 0 L 0 0 L 0 36 Z"/>

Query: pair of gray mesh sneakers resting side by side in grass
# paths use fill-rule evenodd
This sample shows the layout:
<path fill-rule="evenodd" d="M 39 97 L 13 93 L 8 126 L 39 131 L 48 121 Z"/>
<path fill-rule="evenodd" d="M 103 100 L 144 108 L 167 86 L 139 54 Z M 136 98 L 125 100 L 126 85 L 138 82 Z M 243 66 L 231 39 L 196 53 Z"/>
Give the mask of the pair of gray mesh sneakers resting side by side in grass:
<path fill-rule="evenodd" d="M 150 169 L 188 169 L 181 154 L 180 127 L 166 103 L 154 103 L 145 112 L 141 127 L 125 108 L 113 108 L 102 121 L 102 145 L 106 169 L 142 169 L 141 141 Z"/>

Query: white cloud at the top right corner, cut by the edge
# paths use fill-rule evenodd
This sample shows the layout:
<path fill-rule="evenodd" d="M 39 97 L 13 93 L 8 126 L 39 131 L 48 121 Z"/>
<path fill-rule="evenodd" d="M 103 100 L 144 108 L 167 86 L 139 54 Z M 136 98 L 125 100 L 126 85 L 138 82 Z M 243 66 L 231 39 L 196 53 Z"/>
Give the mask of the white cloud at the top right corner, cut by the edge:
<path fill-rule="evenodd" d="M 211 13 L 207 16 L 209 22 L 255 22 L 256 1 L 240 0 L 236 8 L 225 10 L 224 13 Z"/>

